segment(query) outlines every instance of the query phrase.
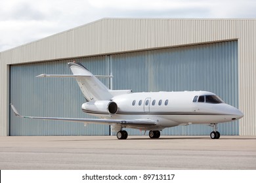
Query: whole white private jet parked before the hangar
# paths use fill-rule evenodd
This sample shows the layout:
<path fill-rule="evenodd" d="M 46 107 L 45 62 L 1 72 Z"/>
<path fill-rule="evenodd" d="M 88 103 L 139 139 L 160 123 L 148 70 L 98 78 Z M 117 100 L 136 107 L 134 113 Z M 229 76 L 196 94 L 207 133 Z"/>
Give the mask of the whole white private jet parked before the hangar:
<path fill-rule="evenodd" d="M 73 77 L 77 80 L 86 103 L 83 112 L 99 117 L 49 118 L 22 116 L 11 104 L 14 114 L 22 118 L 83 122 L 85 125 L 108 124 L 117 132 L 117 139 L 127 139 L 124 127 L 149 131 L 149 137 L 159 138 L 165 127 L 189 124 L 209 124 L 213 127 L 211 139 L 219 139 L 217 124 L 238 120 L 244 114 L 224 103 L 211 92 L 140 92 L 109 90 L 81 63 L 68 63 L 74 75 L 39 75 L 37 77 Z M 98 76 L 99 77 L 99 76 Z M 102 76 L 110 77 L 110 76 Z"/>

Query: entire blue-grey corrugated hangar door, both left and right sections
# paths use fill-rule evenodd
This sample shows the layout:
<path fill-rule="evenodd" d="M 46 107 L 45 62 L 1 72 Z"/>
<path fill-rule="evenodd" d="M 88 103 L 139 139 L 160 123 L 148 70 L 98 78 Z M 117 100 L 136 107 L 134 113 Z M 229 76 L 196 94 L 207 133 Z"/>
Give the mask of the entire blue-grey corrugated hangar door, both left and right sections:
<path fill-rule="evenodd" d="M 114 90 L 134 92 L 207 90 L 238 107 L 237 41 L 148 50 L 76 59 L 95 75 L 114 75 Z M 83 95 L 73 78 L 35 78 L 41 73 L 70 74 L 70 60 L 11 66 L 11 102 L 27 116 L 91 118 L 81 112 Z M 73 60 L 71 60 L 73 61 Z M 110 64 L 111 63 L 111 64 Z M 103 79 L 107 86 L 109 80 Z M 11 135 L 108 135 L 108 125 L 20 119 L 11 113 Z M 209 135 L 211 127 L 165 129 L 163 135 Z M 238 135 L 238 122 L 220 124 L 222 135 Z M 142 134 L 129 129 L 130 135 Z"/>

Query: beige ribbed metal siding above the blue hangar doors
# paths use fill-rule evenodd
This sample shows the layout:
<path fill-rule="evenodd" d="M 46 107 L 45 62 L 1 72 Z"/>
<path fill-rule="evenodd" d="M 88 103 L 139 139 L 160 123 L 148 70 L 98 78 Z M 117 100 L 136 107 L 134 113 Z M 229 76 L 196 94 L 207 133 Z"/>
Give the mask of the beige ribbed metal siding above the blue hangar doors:
<path fill-rule="evenodd" d="M 106 18 L 7 50 L 3 56 L 9 63 L 22 63 L 238 39 L 241 33 L 246 37 L 243 33 L 255 22 Z"/>

